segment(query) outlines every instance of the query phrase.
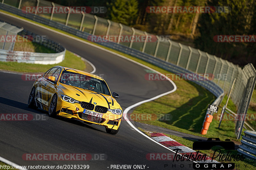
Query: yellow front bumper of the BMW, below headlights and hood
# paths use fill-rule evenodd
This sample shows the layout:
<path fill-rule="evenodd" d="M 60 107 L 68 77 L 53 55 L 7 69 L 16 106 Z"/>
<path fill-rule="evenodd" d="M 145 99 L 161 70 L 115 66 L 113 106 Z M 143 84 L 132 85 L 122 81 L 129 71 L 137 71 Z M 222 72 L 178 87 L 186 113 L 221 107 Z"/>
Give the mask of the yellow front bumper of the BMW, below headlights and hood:
<path fill-rule="evenodd" d="M 56 110 L 57 115 L 59 116 L 67 117 L 69 119 L 76 119 L 83 122 L 98 124 L 101 126 L 105 126 L 108 129 L 115 130 L 118 129 L 123 116 L 123 114 L 115 115 L 109 111 L 107 113 L 103 113 L 102 118 L 84 114 L 84 108 L 81 107 L 79 103 L 69 103 L 61 100 L 61 98 L 59 98 L 58 100 Z M 92 111 L 95 112 L 94 110 Z"/>

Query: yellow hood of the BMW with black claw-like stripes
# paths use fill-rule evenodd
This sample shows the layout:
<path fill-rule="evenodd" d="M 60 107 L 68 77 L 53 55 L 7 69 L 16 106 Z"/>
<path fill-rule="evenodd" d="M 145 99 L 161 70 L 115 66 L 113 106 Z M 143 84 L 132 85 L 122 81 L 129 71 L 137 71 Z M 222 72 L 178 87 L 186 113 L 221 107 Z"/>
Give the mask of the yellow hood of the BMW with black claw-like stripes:
<path fill-rule="evenodd" d="M 119 109 L 121 108 L 116 99 L 112 96 L 106 94 L 93 92 L 79 87 L 74 87 L 71 85 L 59 84 L 59 88 L 69 97 L 78 100 L 90 102 L 95 105 L 104 106 L 110 109 Z"/>

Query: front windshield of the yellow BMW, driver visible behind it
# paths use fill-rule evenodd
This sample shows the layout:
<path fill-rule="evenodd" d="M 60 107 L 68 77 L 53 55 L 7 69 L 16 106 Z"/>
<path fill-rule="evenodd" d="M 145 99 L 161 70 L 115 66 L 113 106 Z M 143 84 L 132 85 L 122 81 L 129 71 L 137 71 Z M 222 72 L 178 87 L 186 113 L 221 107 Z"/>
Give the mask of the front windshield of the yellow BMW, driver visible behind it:
<path fill-rule="evenodd" d="M 110 96 L 110 92 L 105 81 L 98 78 L 86 76 L 84 74 L 70 71 L 62 71 L 60 83 L 80 87 L 93 92 L 99 92 Z"/>

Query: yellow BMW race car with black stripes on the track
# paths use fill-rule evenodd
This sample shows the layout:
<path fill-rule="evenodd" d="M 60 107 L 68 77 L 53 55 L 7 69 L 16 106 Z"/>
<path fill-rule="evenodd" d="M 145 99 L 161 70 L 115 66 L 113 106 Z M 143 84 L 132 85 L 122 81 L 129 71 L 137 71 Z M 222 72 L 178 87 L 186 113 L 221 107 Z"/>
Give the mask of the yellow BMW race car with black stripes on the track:
<path fill-rule="evenodd" d="M 36 79 L 28 98 L 28 107 L 42 108 L 49 116 L 63 116 L 88 124 L 105 126 L 117 134 L 123 110 L 105 80 L 99 76 L 55 66 Z"/>

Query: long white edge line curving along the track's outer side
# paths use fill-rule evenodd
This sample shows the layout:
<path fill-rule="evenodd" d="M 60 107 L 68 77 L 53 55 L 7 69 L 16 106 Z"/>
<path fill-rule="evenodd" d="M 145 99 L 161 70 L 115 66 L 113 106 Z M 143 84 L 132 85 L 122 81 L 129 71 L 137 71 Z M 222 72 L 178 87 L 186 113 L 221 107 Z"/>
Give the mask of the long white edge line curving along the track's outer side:
<path fill-rule="evenodd" d="M 153 141 L 153 142 L 159 144 L 159 143 L 156 142 L 155 140 L 151 139 L 150 137 L 148 137 L 147 135 L 145 135 L 144 133 L 142 133 L 142 132 L 141 132 L 139 129 L 137 129 L 135 126 L 133 126 L 133 124 L 128 120 L 128 118 L 127 118 L 126 115 L 127 115 L 128 111 L 131 110 L 133 107 L 139 106 L 139 105 L 142 104 L 142 103 L 146 103 L 146 102 L 148 102 L 148 101 L 152 101 L 152 100 L 155 100 L 155 99 L 157 99 L 157 98 L 159 98 L 159 97 L 162 97 L 162 96 L 164 96 L 164 95 L 167 95 L 167 94 L 170 94 L 170 93 L 172 93 L 172 92 L 175 92 L 175 91 L 177 90 L 177 86 L 174 84 L 174 82 L 173 82 L 170 78 L 166 77 L 166 76 L 163 75 L 162 73 L 160 73 L 160 72 L 158 72 L 158 71 L 156 71 L 156 70 L 154 70 L 154 69 L 152 69 L 152 68 L 150 68 L 150 67 L 148 67 L 148 66 L 145 66 L 145 65 L 143 65 L 143 64 L 141 64 L 141 63 L 139 63 L 139 62 L 133 61 L 132 59 L 129 59 L 129 58 L 123 56 L 123 55 L 117 54 L 117 53 L 115 53 L 115 52 L 113 52 L 113 51 L 109 51 L 108 49 L 99 47 L 99 46 L 97 46 L 97 45 L 91 44 L 91 43 L 86 42 L 86 41 L 82 41 L 82 40 L 80 40 L 80 39 L 78 39 L 78 38 L 75 38 L 75 37 L 72 37 L 72 36 L 70 36 L 70 35 L 67 35 L 67 34 L 64 34 L 64 33 L 60 33 L 60 32 L 58 32 L 58 31 L 52 30 L 52 29 L 50 29 L 50 28 L 47 28 L 47 27 L 45 27 L 45 26 L 41 26 L 41 25 L 35 24 L 35 23 L 30 22 L 30 21 L 28 21 L 28 20 L 21 19 L 21 18 L 19 18 L 19 17 L 15 17 L 15 16 L 12 16 L 12 15 L 10 15 L 10 14 L 6 14 L 6 13 L 4 13 L 4 12 L 0 12 L 0 13 L 1 13 L 1 14 L 4 14 L 4 15 L 7 15 L 7 16 L 10 16 L 10 17 L 13 17 L 13 18 L 16 18 L 16 19 L 20 19 L 20 20 L 22 20 L 22 21 L 24 21 L 24 22 L 27 22 L 27 23 L 36 25 L 36 26 L 38 26 L 38 27 L 44 28 L 44 29 L 49 30 L 49 31 L 52 31 L 52 32 L 54 32 L 54 33 L 58 33 L 58 34 L 60 34 L 60 35 L 66 36 L 66 37 L 71 38 L 71 39 L 73 39 L 73 40 L 80 41 L 80 42 L 82 42 L 82 43 L 84 43 L 84 44 L 87 44 L 87 45 L 90 45 L 90 46 L 92 46 L 92 47 L 99 48 L 99 49 L 101 49 L 101 50 L 103 50 L 103 51 L 109 52 L 109 53 L 111 53 L 111 54 L 117 55 L 117 56 L 122 57 L 122 58 L 124 58 L 124 59 L 126 59 L 126 60 L 129 60 L 129 61 L 131 61 L 131 62 L 133 62 L 133 63 L 136 63 L 136 64 L 138 64 L 138 65 L 140 65 L 140 66 L 142 66 L 142 67 L 145 67 L 145 68 L 147 68 L 148 70 L 155 71 L 156 73 L 158 73 L 158 74 L 162 75 L 163 77 L 165 77 L 166 79 L 168 79 L 168 80 L 171 82 L 171 84 L 173 85 L 173 87 L 174 87 L 173 90 L 171 90 L 171 91 L 169 91 L 169 92 L 165 92 L 165 93 L 163 93 L 163 94 L 159 94 L 159 95 L 157 95 L 157 96 L 155 96 L 155 97 L 153 97 L 153 98 L 151 98 L 151 99 L 143 100 L 143 101 L 140 101 L 140 102 L 138 102 L 138 103 L 135 103 L 135 104 L 133 104 L 132 106 L 127 107 L 127 108 L 124 110 L 124 112 L 123 112 L 123 114 L 124 114 L 124 119 L 127 119 L 126 121 L 128 122 L 128 124 L 129 124 L 133 129 L 135 129 L 137 132 L 139 132 L 139 133 L 140 133 L 141 135 L 143 135 L 144 137 L 147 137 L 147 138 L 150 139 L 151 141 Z M 172 151 L 172 152 L 174 152 L 173 150 L 171 150 L 170 148 L 167 148 L 166 146 L 164 146 L 164 145 L 162 145 L 162 144 L 159 144 L 159 145 L 162 146 L 162 147 L 164 147 L 164 148 L 166 148 L 166 149 L 168 149 L 168 150 L 170 150 L 170 151 Z M 174 152 L 174 153 L 175 153 L 175 152 Z M 193 162 L 195 162 L 195 161 L 193 161 Z M 195 163 L 197 163 L 197 162 L 195 162 Z"/>

